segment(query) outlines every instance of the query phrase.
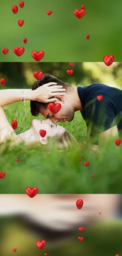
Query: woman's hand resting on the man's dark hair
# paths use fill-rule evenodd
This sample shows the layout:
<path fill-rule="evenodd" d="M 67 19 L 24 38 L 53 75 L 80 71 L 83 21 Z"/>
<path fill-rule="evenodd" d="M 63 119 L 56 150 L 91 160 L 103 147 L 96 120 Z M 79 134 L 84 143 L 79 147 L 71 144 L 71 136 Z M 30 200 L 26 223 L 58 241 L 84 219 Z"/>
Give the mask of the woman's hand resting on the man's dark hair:
<path fill-rule="evenodd" d="M 54 96 L 64 96 L 65 95 L 65 89 L 62 89 L 62 85 L 57 85 L 57 83 L 48 83 L 45 85 L 41 85 L 38 87 L 36 90 L 32 91 L 33 92 L 33 100 L 37 100 L 39 102 L 43 103 L 49 103 L 49 102 L 54 102 L 57 99 L 51 97 Z"/>

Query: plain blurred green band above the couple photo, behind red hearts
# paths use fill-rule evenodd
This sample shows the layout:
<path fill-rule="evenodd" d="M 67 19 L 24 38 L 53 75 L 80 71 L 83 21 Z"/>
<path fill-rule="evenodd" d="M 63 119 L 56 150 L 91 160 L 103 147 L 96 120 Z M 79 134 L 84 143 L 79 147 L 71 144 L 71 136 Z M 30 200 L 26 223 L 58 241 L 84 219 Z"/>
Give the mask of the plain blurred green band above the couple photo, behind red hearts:
<path fill-rule="evenodd" d="M 19 0 L 1 1 L 0 48 L 8 48 L 4 55 L 0 50 L 1 62 L 32 62 L 31 52 L 44 51 L 44 62 L 103 61 L 104 56 L 114 55 L 114 61 L 122 60 L 122 1 L 97 0 Z M 18 13 L 12 13 L 12 5 L 18 5 Z M 74 9 L 85 5 L 85 16 L 78 19 Z M 46 14 L 52 10 L 51 16 Z M 25 21 L 22 27 L 18 20 Z M 86 39 L 90 34 L 90 39 Z M 27 38 L 27 44 L 23 38 Z M 13 48 L 25 47 L 18 57 Z"/>

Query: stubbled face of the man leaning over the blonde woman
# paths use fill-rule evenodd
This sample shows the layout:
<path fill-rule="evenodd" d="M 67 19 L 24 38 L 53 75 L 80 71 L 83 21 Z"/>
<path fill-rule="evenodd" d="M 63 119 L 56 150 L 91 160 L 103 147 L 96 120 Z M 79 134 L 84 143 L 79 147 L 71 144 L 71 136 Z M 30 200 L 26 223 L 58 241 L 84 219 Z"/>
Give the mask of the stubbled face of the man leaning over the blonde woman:
<path fill-rule="evenodd" d="M 60 104 L 61 110 L 57 114 L 53 114 L 48 108 L 44 109 L 43 107 L 40 107 L 39 112 L 45 118 L 50 118 L 54 124 L 65 121 L 71 122 L 74 118 L 74 111 L 66 103 L 60 102 Z"/>

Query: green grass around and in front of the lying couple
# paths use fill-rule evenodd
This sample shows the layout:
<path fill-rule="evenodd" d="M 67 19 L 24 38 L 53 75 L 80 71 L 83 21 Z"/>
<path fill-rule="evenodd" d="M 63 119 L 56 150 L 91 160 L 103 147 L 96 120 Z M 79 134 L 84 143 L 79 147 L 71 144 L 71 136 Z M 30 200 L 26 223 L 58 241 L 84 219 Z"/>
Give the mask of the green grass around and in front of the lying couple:
<path fill-rule="evenodd" d="M 10 124 L 13 119 L 18 121 L 17 134 L 30 128 L 34 117 L 29 102 L 26 106 L 14 103 L 4 110 Z M 0 179 L 0 193 L 25 193 L 26 187 L 35 186 L 39 193 L 122 193 L 122 143 L 117 147 L 111 140 L 98 156 L 82 146 L 86 141 L 86 125 L 80 112 L 75 113 L 71 123 L 61 125 L 79 142 L 76 149 L 59 152 L 53 146 L 48 152 L 42 145 L 28 148 L 22 144 L 10 150 L 6 145 L 0 154 L 0 171 L 5 172 Z M 85 161 L 89 162 L 88 167 Z"/>

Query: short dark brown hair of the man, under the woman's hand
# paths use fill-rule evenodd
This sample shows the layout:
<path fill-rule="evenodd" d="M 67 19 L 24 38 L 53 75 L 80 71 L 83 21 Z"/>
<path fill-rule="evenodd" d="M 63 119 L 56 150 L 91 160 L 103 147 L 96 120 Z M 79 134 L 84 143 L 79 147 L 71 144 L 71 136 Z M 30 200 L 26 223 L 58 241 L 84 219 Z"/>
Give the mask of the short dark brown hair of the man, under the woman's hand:
<path fill-rule="evenodd" d="M 50 82 L 57 83 L 57 85 L 62 85 L 63 88 L 66 88 L 66 93 L 67 94 L 69 94 L 70 91 L 71 91 L 72 86 L 65 84 L 64 82 L 62 82 L 61 80 L 59 80 L 58 78 L 56 78 L 56 77 L 54 77 L 50 74 L 45 74 L 43 76 L 43 78 L 36 81 L 32 86 L 32 90 L 36 90 L 41 85 L 48 84 Z M 53 98 L 53 97 L 51 97 L 51 98 Z M 30 106 L 31 106 L 31 114 L 33 116 L 37 117 L 39 115 L 39 108 L 43 107 L 43 108 L 47 109 L 48 108 L 48 103 L 42 103 L 42 102 L 31 100 L 30 101 Z"/>

